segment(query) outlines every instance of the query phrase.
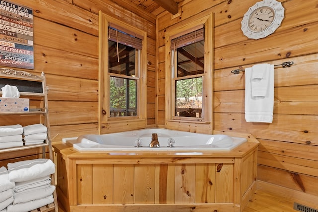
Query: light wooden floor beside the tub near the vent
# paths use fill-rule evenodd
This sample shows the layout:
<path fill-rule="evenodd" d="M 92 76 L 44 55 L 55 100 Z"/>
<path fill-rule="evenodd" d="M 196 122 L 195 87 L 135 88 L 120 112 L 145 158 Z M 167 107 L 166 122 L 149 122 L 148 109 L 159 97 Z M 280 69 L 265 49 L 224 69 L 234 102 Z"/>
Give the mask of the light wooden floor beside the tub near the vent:
<path fill-rule="evenodd" d="M 293 209 L 294 202 L 297 201 L 256 190 L 243 212 L 299 212 Z M 64 212 L 64 210 L 59 207 L 59 212 Z"/>

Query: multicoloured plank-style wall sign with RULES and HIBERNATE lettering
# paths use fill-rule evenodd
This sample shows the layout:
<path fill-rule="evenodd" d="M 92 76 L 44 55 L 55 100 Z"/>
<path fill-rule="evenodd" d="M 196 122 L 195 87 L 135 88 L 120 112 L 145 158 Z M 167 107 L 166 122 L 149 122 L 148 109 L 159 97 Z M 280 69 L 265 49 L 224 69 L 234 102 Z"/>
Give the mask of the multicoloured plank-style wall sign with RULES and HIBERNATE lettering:
<path fill-rule="evenodd" d="M 0 65 L 34 69 L 33 12 L 0 0 Z"/>

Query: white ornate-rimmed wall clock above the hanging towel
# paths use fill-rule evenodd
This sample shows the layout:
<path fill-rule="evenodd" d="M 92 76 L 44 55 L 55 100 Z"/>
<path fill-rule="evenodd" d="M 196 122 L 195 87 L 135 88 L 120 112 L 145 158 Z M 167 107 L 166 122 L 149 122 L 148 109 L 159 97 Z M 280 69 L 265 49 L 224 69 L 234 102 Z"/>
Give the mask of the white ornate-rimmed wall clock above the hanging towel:
<path fill-rule="evenodd" d="M 276 0 L 259 1 L 250 7 L 242 20 L 242 31 L 248 38 L 259 39 L 272 34 L 284 18 L 284 7 Z"/>

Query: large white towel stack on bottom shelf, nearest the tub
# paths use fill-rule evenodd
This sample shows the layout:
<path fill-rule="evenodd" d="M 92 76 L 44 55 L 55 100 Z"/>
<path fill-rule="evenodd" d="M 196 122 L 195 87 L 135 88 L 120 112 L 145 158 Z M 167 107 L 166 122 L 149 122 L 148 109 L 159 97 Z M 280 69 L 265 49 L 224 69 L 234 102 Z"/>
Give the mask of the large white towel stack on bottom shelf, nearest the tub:
<path fill-rule="evenodd" d="M 50 159 L 19 161 L 7 166 L 8 181 L 15 186 L 6 212 L 31 211 L 54 202 L 55 186 L 51 185 L 50 175 L 55 172 L 55 165 Z"/>

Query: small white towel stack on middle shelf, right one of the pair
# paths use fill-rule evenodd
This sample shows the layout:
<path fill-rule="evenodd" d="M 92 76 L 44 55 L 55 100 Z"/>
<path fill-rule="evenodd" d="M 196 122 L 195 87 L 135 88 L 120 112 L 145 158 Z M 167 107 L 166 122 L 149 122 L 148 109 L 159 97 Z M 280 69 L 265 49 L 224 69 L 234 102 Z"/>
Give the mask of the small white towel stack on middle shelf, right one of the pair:
<path fill-rule="evenodd" d="M 32 124 L 23 127 L 25 145 L 42 144 L 47 139 L 47 127 L 43 124 Z"/>

